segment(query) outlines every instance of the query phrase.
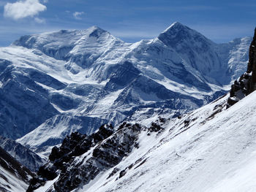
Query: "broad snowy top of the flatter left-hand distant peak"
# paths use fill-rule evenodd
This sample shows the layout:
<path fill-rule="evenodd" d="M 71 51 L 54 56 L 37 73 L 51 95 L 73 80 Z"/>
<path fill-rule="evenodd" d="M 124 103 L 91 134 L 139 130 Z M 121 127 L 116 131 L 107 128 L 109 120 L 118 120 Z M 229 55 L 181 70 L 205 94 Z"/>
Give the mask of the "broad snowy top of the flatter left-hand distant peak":
<path fill-rule="evenodd" d="M 97 26 L 92 26 L 86 30 L 61 30 L 23 36 L 13 42 L 12 45 L 41 50 L 42 53 L 50 57 L 67 60 L 67 54 L 76 46 L 83 44 L 90 45 L 91 47 L 91 44 L 94 44 L 94 47 L 97 47 L 96 44 L 111 42 L 113 39 L 116 38 L 108 31 Z M 80 50 L 76 47 L 75 51 L 81 51 L 81 47 Z"/>

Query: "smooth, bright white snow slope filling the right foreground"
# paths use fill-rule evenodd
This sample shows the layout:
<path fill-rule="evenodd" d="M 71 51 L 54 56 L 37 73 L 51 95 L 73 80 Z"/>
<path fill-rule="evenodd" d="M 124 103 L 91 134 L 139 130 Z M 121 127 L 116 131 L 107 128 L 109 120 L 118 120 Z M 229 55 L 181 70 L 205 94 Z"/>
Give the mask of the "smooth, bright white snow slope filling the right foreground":
<path fill-rule="evenodd" d="M 255 100 L 225 110 L 225 96 L 170 120 L 161 135 L 140 135 L 138 149 L 79 191 L 255 191 Z"/>

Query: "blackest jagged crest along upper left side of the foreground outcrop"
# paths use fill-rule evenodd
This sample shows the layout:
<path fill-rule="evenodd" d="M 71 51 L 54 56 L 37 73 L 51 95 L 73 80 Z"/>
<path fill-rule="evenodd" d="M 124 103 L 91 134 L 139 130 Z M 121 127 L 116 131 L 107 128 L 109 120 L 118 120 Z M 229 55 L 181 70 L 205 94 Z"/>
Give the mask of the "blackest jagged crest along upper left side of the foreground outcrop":
<path fill-rule="evenodd" d="M 62 170 L 60 180 L 67 180 L 64 173 L 65 171 L 67 172 L 67 165 L 71 164 L 70 162 L 72 162 L 73 158 L 86 153 L 91 147 L 97 145 L 98 142 L 110 137 L 111 134 L 113 134 L 113 126 L 104 124 L 99 128 L 99 131 L 90 136 L 78 132 L 67 136 L 62 142 L 61 147 L 53 147 L 48 163 L 39 168 L 37 177 L 31 180 L 31 185 L 29 185 L 27 191 L 34 191 L 41 185 L 44 185 L 45 181 L 56 178 L 58 176 L 57 170 Z M 78 177 L 74 178 L 70 185 L 67 184 L 67 188 L 73 188 L 73 185 L 77 186 L 80 183 Z M 65 190 L 69 191 L 67 188 Z"/>

